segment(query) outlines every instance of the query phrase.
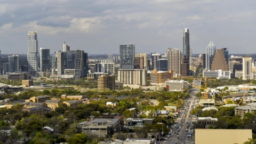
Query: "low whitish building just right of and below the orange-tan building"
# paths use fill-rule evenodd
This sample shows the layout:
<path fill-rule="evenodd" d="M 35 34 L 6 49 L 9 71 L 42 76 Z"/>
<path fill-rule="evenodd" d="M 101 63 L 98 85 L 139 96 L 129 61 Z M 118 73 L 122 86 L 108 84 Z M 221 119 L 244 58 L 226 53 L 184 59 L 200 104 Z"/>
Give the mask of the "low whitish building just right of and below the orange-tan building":
<path fill-rule="evenodd" d="M 183 80 L 171 80 L 165 82 L 165 85 L 169 86 L 169 90 L 181 90 L 181 89 L 187 89 L 188 88 L 188 82 Z"/>

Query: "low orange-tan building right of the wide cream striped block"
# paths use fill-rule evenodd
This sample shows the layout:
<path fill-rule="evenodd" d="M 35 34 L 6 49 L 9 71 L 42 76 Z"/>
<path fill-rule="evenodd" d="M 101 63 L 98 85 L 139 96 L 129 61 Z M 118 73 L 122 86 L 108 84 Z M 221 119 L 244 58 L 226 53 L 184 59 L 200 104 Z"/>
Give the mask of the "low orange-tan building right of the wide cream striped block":
<path fill-rule="evenodd" d="M 157 71 L 153 70 L 150 74 L 150 84 L 164 84 L 166 81 L 173 79 L 173 70 Z"/>

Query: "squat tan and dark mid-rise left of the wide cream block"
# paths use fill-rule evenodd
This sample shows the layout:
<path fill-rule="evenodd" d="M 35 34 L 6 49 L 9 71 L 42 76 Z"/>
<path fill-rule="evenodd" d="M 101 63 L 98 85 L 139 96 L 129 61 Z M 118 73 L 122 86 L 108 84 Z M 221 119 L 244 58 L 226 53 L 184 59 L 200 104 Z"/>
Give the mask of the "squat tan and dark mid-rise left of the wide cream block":
<path fill-rule="evenodd" d="M 113 75 L 102 75 L 98 77 L 98 91 L 103 92 L 105 89 L 115 89 L 115 77 Z"/>

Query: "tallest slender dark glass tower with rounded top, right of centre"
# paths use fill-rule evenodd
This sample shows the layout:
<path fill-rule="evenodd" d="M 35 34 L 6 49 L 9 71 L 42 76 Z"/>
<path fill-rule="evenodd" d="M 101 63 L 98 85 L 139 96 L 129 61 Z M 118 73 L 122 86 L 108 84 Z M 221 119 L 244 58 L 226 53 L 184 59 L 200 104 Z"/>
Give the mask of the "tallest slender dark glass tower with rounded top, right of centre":
<path fill-rule="evenodd" d="M 189 52 L 190 52 L 189 30 L 187 28 L 185 28 L 185 29 L 183 29 L 183 57 L 186 55 L 188 62 L 190 63 Z"/>

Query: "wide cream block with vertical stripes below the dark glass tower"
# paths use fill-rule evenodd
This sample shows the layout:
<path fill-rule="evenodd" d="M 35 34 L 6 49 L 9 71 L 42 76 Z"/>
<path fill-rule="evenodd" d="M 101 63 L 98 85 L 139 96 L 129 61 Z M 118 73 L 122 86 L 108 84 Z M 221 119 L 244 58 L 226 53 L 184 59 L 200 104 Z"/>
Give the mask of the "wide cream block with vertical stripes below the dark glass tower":
<path fill-rule="evenodd" d="M 119 69 L 118 82 L 147 85 L 147 71 L 145 69 Z"/>

